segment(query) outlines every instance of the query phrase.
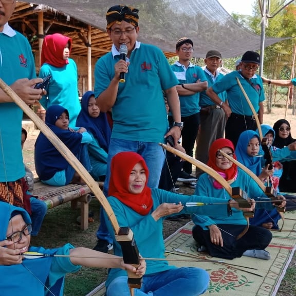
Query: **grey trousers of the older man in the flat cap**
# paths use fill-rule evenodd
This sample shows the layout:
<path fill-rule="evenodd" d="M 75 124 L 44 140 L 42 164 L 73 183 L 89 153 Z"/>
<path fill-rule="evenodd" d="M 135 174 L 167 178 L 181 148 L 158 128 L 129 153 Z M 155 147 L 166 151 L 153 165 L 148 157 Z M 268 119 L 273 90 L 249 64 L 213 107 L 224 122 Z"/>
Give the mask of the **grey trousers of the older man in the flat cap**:
<path fill-rule="evenodd" d="M 203 163 L 209 159 L 209 149 L 212 143 L 224 137 L 226 115 L 222 108 L 211 109 L 209 114 L 200 112 L 199 132 L 196 138 L 195 158 Z M 199 177 L 203 171 L 196 168 L 195 175 Z"/>

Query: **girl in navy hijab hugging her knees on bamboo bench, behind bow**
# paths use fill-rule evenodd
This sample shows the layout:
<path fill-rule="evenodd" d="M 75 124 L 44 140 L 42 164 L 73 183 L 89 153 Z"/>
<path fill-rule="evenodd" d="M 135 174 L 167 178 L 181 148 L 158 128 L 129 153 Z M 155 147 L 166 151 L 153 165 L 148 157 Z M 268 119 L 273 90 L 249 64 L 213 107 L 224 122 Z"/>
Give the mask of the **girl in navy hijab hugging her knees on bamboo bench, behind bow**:
<path fill-rule="evenodd" d="M 86 129 L 84 127 L 69 128 L 68 110 L 60 105 L 48 107 L 45 123 L 90 171 L 91 165 L 85 143 L 91 142 L 92 139 Z M 39 179 L 51 186 L 64 186 L 71 181 L 83 183 L 71 165 L 42 133 L 39 134 L 35 143 L 35 168 Z"/>

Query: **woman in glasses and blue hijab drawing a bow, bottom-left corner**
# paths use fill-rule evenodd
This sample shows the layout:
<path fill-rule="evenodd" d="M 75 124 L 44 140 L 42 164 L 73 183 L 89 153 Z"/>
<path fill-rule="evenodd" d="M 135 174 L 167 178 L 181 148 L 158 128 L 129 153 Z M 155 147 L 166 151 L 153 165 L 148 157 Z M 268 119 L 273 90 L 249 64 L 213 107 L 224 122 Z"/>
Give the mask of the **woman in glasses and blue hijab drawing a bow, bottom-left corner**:
<path fill-rule="evenodd" d="M 7 252 L 10 257 L 17 258 L 17 261 L 13 258 L 6 262 L 1 261 L 2 296 L 20 295 L 20 292 L 23 295 L 61 296 L 66 273 L 78 271 L 80 265 L 128 269 L 138 275 L 145 273 L 143 260 L 136 270 L 132 265 L 124 264 L 122 258 L 118 256 L 106 255 L 87 248 L 74 248 L 70 244 L 56 249 L 30 247 L 32 231 L 30 216 L 24 209 L 9 205 L 7 202 L 0 202 L 0 225 L 0 245 L 5 246 L 0 248 L 10 251 Z M 62 256 L 24 255 L 28 251 Z"/>

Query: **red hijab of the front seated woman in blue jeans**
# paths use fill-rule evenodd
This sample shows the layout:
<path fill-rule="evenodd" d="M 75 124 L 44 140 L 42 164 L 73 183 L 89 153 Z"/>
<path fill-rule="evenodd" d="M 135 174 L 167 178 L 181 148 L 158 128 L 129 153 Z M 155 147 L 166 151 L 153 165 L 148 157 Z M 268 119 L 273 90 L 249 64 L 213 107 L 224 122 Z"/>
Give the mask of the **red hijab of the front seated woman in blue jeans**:
<path fill-rule="evenodd" d="M 145 170 L 146 183 L 141 193 L 134 194 L 128 190 L 128 181 L 137 163 Z M 147 187 L 149 171 L 143 157 L 135 152 L 120 152 L 112 158 L 110 171 L 108 196 L 115 196 L 122 204 L 141 215 L 148 214 L 153 206 L 153 199 L 151 189 Z"/>

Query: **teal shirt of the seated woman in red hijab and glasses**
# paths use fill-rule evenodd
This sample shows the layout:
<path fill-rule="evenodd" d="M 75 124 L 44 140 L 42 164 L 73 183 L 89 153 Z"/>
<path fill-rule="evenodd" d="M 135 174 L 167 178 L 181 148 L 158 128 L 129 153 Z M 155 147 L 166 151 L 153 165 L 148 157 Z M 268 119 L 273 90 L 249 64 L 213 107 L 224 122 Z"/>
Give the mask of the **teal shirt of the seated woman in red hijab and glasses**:
<path fill-rule="evenodd" d="M 263 197 L 262 200 L 269 200 L 267 196 L 260 189 L 258 184 L 243 170 L 238 168 L 237 178 L 231 183 L 231 187 L 239 187 L 248 194 L 249 198 L 254 198 L 255 200 L 258 197 Z M 214 196 L 220 199 L 223 199 L 227 202 L 231 196 L 227 191 L 222 189 L 216 189 L 213 186 L 213 178 L 208 174 L 202 174 L 197 183 L 194 194 L 203 195 L 203 196 Z M 271 202 L 261 202 L 256 204 L 256 209 L 266 208 L 273 209 Z M 214 212 L 210 215 L 206 213 L 204 215 L 193 215 L 192 220 L 196 225 L 199 225 L 204 230 L 208 230 L 209 225 L 213 224 L 235 224 L 235 225 L 246 225 L 247 221 L 244 218 L 243 212 L 240 210 L 232 209 L 232 215 L 226 218 L 218 217 Z"/>

